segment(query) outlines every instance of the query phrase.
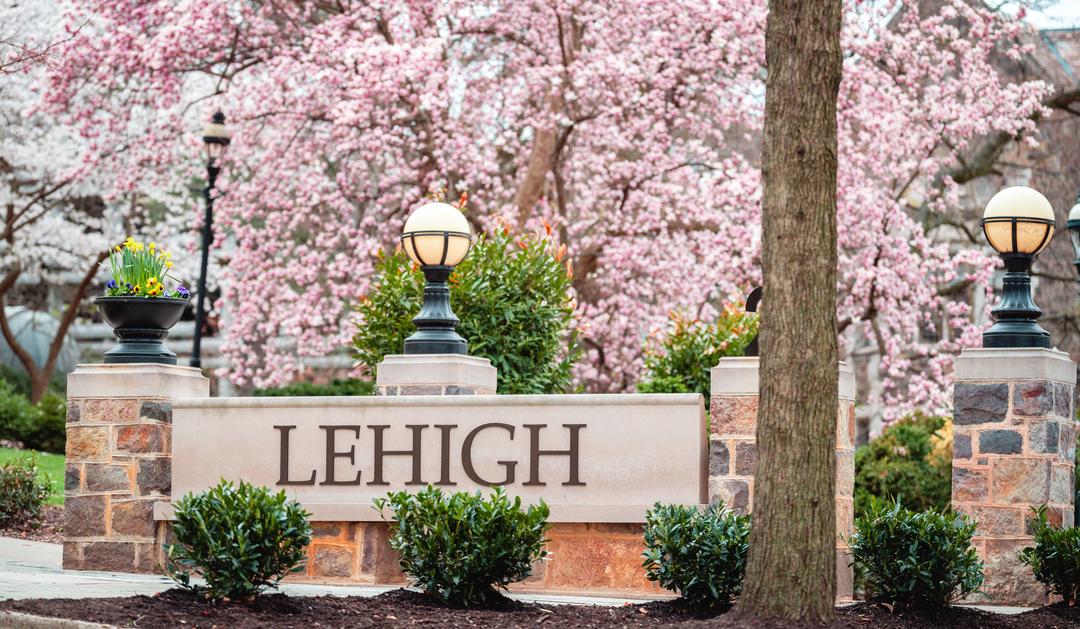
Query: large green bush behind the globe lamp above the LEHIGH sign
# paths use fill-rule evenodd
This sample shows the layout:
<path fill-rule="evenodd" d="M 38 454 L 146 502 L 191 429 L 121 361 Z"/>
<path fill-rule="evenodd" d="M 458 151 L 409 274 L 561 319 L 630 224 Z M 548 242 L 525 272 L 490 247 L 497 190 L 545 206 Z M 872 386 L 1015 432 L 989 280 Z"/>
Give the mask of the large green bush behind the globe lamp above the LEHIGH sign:
<path fill-rule="evenodd" d="M 499 370 L 500 393 L 555 393 L 570 387 L 580 354 L 571 277 L 565 253 L 537 237 L 502 230 L 482 236 L 450 276 L 450 304 L 469 353 Z M 369 373 L 388 353 L 401 353 L 416 331 L 423 275 L 400 249 L 380 254 L 375 281 L 356 308 L 353 346 Z"/>

